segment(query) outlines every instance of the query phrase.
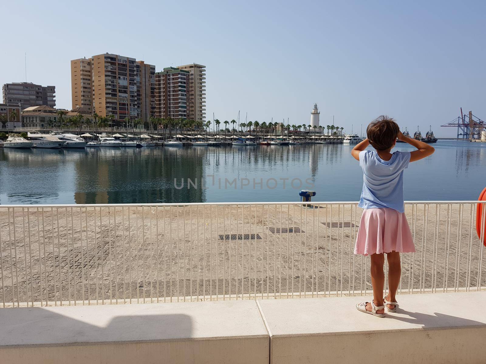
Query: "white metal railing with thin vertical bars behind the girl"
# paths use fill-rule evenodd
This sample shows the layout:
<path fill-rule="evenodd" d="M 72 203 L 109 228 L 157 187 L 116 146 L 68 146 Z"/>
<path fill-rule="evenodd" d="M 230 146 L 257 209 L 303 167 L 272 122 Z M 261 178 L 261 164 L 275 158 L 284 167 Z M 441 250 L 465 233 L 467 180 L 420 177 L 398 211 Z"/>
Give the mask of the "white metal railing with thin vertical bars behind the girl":
<path fill-rule="evenodd" d="M 477 203 L 406 202 L 399 293 L 486 286 Z M 312 206 L 0 205 L 0 307 L 369 294 L 361 209 Z"/>

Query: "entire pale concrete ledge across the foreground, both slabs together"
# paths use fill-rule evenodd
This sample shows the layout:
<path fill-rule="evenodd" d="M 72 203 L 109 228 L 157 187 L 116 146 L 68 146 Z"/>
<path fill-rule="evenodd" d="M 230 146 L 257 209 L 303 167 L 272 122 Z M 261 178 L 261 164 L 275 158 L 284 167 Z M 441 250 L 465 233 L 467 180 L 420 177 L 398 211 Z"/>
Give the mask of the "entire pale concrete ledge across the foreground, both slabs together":
<path fill-rule="evenodd" d="M 0 363 L 485 363 L 486 292 L 0 309 Z"/>

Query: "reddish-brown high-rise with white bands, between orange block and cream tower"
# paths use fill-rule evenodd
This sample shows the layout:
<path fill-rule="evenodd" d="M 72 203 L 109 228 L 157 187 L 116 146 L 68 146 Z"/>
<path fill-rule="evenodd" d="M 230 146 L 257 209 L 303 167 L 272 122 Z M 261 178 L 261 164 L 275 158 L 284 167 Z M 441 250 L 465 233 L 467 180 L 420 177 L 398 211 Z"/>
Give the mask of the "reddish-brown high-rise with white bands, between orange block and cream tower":
<path fill-rule="evenodd" d="M 189 71 L 175 67 L 166 67 L 156 72 L 156 117 L 191 118 L 187 110 L 189 78 Z"/>

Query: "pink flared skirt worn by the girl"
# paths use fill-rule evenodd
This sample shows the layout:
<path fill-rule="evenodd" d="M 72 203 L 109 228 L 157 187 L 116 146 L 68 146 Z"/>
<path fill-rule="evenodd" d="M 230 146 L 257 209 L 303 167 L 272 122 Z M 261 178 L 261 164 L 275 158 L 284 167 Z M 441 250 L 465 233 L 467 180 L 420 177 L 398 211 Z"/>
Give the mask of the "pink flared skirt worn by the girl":
<path fill-rule="evenodd" d="M 388 208 L 365 209 L 361 215 L 354 254 L 391 251 L 415 252 L 414 239 L 405 213 Z"/>

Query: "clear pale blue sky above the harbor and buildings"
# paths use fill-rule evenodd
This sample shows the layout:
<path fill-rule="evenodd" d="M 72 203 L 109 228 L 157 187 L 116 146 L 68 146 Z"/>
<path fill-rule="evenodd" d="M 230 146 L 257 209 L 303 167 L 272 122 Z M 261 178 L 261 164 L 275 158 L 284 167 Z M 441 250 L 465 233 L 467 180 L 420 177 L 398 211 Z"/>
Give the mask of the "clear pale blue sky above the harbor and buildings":
<path fill-rule="evenodd" d="M 184 6 L 186 4 L 186 6 Z M 484 1 L 2 1 L 0 83 L 56 86 L 104 52 L 207 66 L 207 116 L 360 132 L 380 114 L 421 131 L 463 111 L 486 119 Z"/>

